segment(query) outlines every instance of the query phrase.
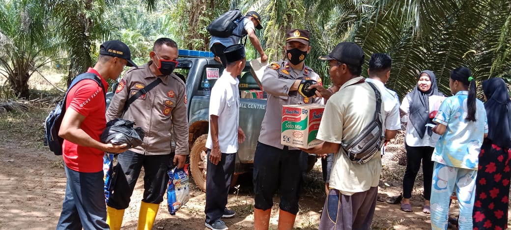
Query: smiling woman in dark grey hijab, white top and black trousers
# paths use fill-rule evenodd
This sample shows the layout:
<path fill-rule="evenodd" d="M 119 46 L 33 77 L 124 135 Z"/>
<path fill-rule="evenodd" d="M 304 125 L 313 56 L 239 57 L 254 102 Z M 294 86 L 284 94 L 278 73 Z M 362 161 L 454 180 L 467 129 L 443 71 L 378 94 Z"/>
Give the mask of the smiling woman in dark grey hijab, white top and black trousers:
<path fill-rule="evenodd" d="M 412 212 L 410 198 L 412 197 L 415 177 L 422 162 L 424 174 L 424 213 L 430 213 L 429 200 L 431 197 L 431 178 L 433 175 L 433 153 L 438 134 L 431 131 L 426 124 L 433 124 L 429 117 L 429 97 L 433 95 L 443 96 L 438 92 L 435 74 L 429 70 L 421 72 L 417 78 L 417 86 L 411 93 L 406 95 L 401 103 L 401 110 L 408 114 L 405 136 L 406 148 L 406 172 L 403 177 L 403 201 L 401 210 Z M 406 118 L 403 118 L 406 119 Z"/>

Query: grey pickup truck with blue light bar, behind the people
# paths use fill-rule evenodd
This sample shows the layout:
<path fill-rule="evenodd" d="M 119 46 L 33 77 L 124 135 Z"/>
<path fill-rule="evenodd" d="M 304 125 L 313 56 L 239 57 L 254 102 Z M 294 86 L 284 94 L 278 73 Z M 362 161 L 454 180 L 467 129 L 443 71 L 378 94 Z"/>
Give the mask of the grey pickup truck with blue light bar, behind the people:
<path fill-rule="evenodd" d="M 186 79 L 187 109 L 189 124 L 190 166 L 192 177 L 201 190 L 206 189 L 206 139 L 209 128 L 208 109 L 210 97 L 204 96 L 204 80 L 208 78 L 210 90 L 223 72 L 223 66 L 213 59 L 211 52 L 179 50 L 178 65 L 175 74 Z M 209 76 L 209 77 L 208 77 Z M 255 76 L 249 61 L 240 75 L 241 90 L 261 90 L 261 82 Z M 111 96 L 107 95 L 107 100 Z M 236 155 L 235 176 L 231 185 L 235 185 L 238 175 L 251 172 L 261 123 L 266 111 L 266 94 L 263 99 L 240 98 L 240 126 L 245 132 L 245 142 L 239 145 Z M 172 144 L 175 146 L 174 144 Z M 316 162 L 316 155 L 309 154 L 308 171 Z"/>

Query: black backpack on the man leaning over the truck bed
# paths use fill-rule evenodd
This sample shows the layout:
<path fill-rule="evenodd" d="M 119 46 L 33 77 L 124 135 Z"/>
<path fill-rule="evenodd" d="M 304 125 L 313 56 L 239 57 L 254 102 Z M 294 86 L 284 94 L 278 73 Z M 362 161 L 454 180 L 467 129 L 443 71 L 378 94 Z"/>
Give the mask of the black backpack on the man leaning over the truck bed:
<path fill-rule="evenodd" d="M 243 15 L 241 15 L 240 9 L 227 11 L 213 20 L 206 30 L 215 37 L 229 37 L 233 35 L 243 37 L 244 35 L 233 34 L 234 29 L 242 19 Z"/>

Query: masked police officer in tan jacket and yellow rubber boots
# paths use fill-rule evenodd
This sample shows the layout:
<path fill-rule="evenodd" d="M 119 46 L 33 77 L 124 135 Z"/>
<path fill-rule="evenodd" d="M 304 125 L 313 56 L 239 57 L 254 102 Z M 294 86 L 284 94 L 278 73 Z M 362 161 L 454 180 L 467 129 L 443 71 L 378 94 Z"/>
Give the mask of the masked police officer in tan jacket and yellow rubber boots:
<path fill-rule="evenodd" d="M 184 166 L 188 155 L 187 96 L 183 81 L 172 73 L 177 65 L 177 56 L 175 41 L 157 39 L 149 53 L 151 60 L 138 68 L 130 68 L 124 74 L 106 112 L 107 121 L 115 118 L 134 121 L 145 133 L 141 146 L 119 154 L 118 164 L 114 168 L 116 178 L 112 179 L 113 191 L 107 201 L 110 229 L 121 228 L 124 210 L 129 206 L 142 167 L 145 173 L 144 197 L 137 229 L 152 228 L 159 203 L 163 201 L 167 189 L 172 137 L 176 142 L 173 163 L 178 168 Z M 162 81 L 124 111 L 128 98 L 157 78 Z"/>

